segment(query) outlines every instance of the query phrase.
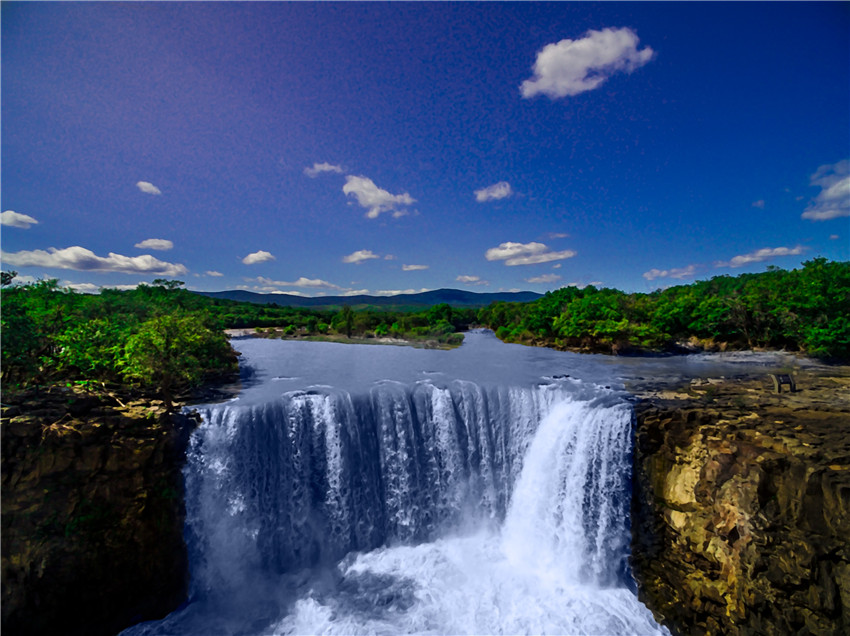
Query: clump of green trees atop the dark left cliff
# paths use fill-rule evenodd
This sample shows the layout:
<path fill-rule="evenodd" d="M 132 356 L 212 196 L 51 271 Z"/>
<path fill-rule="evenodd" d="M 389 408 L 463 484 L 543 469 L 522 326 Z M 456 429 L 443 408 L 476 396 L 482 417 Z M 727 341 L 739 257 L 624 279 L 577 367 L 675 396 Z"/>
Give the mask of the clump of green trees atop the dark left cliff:
<path fill-rule="evenodd" d="M 11 281 L 10 281 L 11 282 Z M 130 292 L 77 294 L 55 280 L 2 292 L 3 390 L 56 382 L 175 390 L 233 371 L 235 356 L 205 299 L 155 281 Z"/>

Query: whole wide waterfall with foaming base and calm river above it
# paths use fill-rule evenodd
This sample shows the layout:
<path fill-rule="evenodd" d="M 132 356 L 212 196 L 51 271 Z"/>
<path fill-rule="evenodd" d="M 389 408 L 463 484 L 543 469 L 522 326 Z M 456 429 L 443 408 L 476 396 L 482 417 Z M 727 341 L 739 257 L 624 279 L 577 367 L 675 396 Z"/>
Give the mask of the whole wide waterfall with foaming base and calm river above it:
<path fill-rule="evenodd" d="M 189 602 L 124 634 L 667 633 L 628 569 L 622 382 L 707 361 L 234 345 L 185 469 Z"/>

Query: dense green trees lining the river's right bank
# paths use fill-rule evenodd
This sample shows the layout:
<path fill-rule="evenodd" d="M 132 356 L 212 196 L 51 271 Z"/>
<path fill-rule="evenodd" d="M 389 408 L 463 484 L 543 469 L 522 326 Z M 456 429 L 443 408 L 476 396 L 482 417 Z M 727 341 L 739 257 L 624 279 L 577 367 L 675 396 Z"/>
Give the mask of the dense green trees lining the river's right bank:
<path fill-rule="evenodd" d="M 502 340 L 604 352 L 771 348 L 850 359 L 850 262 L 716 276 L 651 294 L 565 287 L 478 312 Z"/>

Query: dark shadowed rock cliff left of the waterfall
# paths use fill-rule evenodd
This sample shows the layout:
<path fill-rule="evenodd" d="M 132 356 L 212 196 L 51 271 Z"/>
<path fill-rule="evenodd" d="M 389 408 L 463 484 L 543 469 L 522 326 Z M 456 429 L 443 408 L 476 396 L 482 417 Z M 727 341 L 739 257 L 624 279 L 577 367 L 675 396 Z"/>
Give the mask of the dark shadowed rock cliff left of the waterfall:
<path fill-rule="evenodd" d="M 60 390 L 4 405 L 4 634 L 111 635 L 185 599 L 195 423 L 111 402 Z"/>

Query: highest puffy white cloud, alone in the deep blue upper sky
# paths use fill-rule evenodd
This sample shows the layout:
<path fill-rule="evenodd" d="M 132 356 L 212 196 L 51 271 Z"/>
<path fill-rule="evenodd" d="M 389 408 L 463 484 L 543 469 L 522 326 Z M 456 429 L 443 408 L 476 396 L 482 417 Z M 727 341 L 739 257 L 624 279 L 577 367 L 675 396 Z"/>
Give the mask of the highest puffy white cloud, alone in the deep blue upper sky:
<path fill-rule="evenodd" d="M 588 31 L 578 40 L 547 44 L 537 54 L 534 77 L 520 86 L 525 98 L 550 99 L 578 95 L 599 88 L 615 73 L 631 73 L 649 62 L 655 52 L 638 51 L 638 36 L 628 28 Z"/>

